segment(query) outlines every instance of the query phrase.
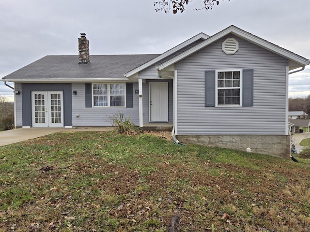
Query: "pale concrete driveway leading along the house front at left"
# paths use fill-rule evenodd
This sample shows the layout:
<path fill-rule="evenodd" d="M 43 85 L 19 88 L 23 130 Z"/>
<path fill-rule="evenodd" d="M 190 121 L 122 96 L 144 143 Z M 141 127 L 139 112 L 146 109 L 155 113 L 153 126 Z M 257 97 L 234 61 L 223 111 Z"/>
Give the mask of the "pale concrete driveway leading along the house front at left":
<path fill-rule="evenodd" d="M 0 146 L 15 144 L 28 139 L 34 139 L 56 132 L 70 131 L 112 131 L 111 127 L 101 128 L 22 128 L 10 131 L 0 131 Z"/>

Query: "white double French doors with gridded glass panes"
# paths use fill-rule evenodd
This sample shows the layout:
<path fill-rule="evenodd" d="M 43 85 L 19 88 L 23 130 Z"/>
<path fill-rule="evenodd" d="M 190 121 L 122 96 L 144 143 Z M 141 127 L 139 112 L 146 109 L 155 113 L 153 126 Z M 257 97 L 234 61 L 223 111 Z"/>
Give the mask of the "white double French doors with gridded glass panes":
<path fill-rule="evenodd" d="M 32 127 L 63 127 L 62 91 L 32 91 Z"/>

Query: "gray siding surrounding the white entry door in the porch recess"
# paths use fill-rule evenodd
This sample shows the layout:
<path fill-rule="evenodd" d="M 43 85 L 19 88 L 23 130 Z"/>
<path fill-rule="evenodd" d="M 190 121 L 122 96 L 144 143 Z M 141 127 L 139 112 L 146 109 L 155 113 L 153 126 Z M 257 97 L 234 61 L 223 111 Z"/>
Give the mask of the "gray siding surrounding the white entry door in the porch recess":
<path fill-rule="evenodd" d="M 140 75 L 139 75 L 140 76 Z M 146 80 L 142 85 L 143 123 L 149 123 L 149 83 L 168 82 L 168 123 L 173 123 L 173 81 L 172 80 Z"/>

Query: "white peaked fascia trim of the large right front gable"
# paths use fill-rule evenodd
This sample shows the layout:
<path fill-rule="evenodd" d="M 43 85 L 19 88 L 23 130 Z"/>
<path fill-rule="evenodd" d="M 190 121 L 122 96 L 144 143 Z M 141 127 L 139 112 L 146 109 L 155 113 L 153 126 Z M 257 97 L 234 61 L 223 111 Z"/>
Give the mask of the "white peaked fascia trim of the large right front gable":
<path fill-rule="evenodd" d="M 182 54 L 171 58 L 170 60 L 158 65 L 158 70 L 161 71 L 169 66 L 171 66 L 172 64 L 175 64 L 176 62 L 180 61 L 181 59 L 184 59 L 188 56 L 190 56 L 191 54 L 197 52 L 198 50 L 202 49 L 203 47 L 216 42 L 217 40 L 219 40 L 220 38 L 228 35 L 228 34 L 234 34 L 237 37 L 240 37 L 242 39 L 245 39 L 251 43 L 254 43 L 258 46 L 263 47 L 266 50 L 272 51 L 276 54 L 278 54 L 279 56 L 285 57 L 287 59 L 293 60 L 296 63 L 299 63 L 301 66 L 302 65 L 308 65 L 310 64 L 309 59 L 303 58 L 297 54 L 294 54 L 293 52 L 290 52 L 284 48 L 281 48 L 273 43 L 270 43 L 268 41 L 265 41 L 255 35 L 252 35 L 244 30 L 238 29 L 234 26 L 231 26 L 227 29 L 224 29 L 220 32 L 218 32 L 217 34 L 209 37 L 208 39 L 206 39 L 205 41 L 203 41 L 200 44 L 197 44 L 196 46 L 188 49 L 187 51 L 183 52 Z"/>

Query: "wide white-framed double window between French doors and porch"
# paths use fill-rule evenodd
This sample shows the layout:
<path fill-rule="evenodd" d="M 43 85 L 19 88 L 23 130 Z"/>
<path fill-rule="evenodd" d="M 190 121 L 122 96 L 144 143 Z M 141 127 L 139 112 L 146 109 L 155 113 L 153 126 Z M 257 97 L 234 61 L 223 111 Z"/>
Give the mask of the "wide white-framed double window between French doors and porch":
<path fill-rule="evenodd" d="M 94 107 L 124 107 L 125 84 L 93 84 Z"/>

